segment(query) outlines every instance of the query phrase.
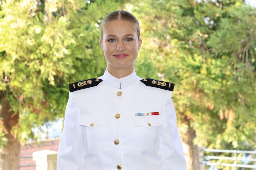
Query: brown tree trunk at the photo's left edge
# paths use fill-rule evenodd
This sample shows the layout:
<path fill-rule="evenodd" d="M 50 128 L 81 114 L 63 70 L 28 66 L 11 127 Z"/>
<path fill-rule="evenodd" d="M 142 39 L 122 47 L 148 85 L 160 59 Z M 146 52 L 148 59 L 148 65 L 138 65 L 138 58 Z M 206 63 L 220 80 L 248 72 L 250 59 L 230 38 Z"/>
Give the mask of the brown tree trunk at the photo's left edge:
<path fill-rule="evenodd" d="M 10 107 L 7 99 L 2 98 L 2 110 L 1 116 L 3 118 L 7 144 L 4 146 L 2 153 L 0 154 L 0 160 L 3 161 L 0 170 L 19 170 L 20 164 L 20 142 L 17 135 L 11 133 L 12 128 L 18 127 L 18 113 L 15 114 Z"/>

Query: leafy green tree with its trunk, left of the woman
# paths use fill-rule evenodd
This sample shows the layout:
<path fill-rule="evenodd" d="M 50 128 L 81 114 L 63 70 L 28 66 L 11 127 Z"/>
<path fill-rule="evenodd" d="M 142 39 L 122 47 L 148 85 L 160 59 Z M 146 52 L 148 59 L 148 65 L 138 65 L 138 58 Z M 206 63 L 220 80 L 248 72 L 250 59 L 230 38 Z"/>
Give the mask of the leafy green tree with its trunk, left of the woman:
<path fill-rule="evenodd" d="M 99 24 L 124 2 L 2 1 L 2 169 L 19 169 L 20 142 L 36 138 L 31 128 L 64 116 L 70 82 L 103 73 Z"/>

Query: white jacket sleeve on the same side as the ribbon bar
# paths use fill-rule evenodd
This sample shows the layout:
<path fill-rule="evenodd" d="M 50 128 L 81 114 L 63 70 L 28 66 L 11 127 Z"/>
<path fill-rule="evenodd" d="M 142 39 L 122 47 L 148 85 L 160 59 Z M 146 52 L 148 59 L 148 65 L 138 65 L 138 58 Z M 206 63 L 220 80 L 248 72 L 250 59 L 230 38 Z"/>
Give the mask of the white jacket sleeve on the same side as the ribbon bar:
<path fill-rule="evenodd" d="M 162 170 L 186 170 L 187 163 L 170 91 L 167 91 L 165 95 L 162 117 L 163 126 L 159 128 L 159 155 L 162 161 Z"/>

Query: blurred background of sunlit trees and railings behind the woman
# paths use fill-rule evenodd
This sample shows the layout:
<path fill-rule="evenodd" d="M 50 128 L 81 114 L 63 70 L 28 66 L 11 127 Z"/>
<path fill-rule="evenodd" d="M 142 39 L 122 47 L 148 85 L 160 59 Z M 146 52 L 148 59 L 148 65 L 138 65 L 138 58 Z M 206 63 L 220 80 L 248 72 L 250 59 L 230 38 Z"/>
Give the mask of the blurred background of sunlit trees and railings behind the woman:
<path fill-rule="evenodd" d="M 57 152 L 68 84 L 104 73 L 100 24 L 120 9 L 140 22 L 137 74 L 176 84 L 188 170 L 256 169 L 255 4 L 0 0 L 0 170 L 35 170 L 34 152 Z"/>

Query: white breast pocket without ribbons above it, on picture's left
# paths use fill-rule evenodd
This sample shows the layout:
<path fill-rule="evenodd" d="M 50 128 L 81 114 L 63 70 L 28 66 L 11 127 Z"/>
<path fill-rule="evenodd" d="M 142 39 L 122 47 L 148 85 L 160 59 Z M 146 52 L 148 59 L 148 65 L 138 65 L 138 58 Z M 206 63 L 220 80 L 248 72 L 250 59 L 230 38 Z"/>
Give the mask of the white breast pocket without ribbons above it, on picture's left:
<path fill-rule="evenodd" d="M 81 115 L 80 126 L 83 126 L 83 142 L 89 152 L 103 152 L 109 149 L 110 117 Z"/>

